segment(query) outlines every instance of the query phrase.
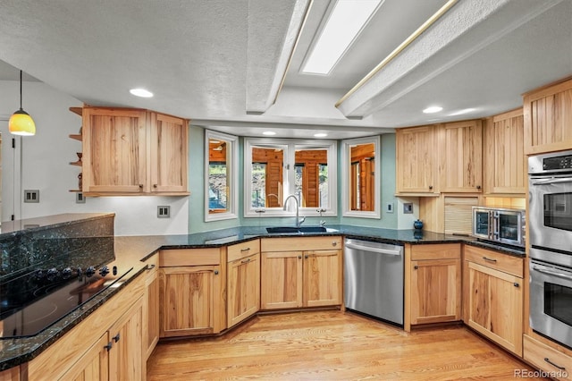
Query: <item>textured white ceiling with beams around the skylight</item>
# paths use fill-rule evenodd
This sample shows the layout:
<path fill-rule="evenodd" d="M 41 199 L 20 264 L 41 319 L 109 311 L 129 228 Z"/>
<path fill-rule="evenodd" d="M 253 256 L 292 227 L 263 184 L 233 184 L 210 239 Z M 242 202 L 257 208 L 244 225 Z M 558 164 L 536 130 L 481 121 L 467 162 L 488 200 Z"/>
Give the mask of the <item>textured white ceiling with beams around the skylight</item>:
<path fill-rule="evenodd" d="M 240 135 L 272 126 L 279 136 L 346 138 L 500 113 L 572 75 L 572 1 L 459 0 L 336 108 L 446 1 L 383 1 L 332 75 L 310 76 L 299 68 L 333 3 L 314 0 L 273 105 L 307 3 L 3 0 L 0 80 L 21 69 L 87 104 L 145 107 Z M 155 97 L 132 97 L 134 87 Z M 433 103 L 442 113 L 421 113 Z M 465 108 L 475 111 L 451 115 Z"/>

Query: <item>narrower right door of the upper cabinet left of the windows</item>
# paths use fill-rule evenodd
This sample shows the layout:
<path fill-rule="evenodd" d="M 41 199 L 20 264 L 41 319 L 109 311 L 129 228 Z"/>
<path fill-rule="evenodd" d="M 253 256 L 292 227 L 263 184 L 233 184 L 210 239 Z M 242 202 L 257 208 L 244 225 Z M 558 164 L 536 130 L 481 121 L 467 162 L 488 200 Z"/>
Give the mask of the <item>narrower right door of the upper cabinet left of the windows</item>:
<path fill-rule="evenodd" d="M 150 113 L 150 190 L 187 192 L 189 126 L 174 116 Z"/>

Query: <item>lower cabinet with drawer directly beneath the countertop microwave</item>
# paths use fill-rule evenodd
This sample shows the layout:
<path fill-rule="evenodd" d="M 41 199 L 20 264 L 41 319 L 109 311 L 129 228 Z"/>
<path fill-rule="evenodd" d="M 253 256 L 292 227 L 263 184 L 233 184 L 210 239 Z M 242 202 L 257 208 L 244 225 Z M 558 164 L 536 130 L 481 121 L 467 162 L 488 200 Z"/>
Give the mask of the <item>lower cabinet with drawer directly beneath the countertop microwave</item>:
<path fill-rule="evenodd" d="M 463 266 L 465 324 L 522 356 L 523 258 L 466 245 Z"/>

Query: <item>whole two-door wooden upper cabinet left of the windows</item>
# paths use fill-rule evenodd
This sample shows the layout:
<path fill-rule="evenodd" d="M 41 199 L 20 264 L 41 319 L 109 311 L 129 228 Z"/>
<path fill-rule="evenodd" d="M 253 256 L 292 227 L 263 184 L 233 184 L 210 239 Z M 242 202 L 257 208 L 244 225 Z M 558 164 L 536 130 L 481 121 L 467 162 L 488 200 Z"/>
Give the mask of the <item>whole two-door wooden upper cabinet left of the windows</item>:
<path fill-rule="evenodd" d="M 83 108 L 85 196 L 187 195 L 187 121 L 141 109 Z"/>

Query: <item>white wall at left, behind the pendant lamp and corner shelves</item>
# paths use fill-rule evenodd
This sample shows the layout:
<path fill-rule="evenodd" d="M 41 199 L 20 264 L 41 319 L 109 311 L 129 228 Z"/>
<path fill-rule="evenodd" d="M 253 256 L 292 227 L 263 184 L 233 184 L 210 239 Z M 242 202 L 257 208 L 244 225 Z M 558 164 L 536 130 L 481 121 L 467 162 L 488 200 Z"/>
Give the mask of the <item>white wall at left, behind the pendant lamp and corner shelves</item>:
<path fill-rule="evenodd" d="M 9 116 L 20 107 L 18 81 L 0 80 L 0 116 Z M 81 151 L 78 140 L 68 138 L 80 131 L 81 118 L 71 106 L 78 99 L 45 83 L 24 82 L 23 108 L 36 123 L 36 135 L 21 138 L 21 190 L 40 190 L 38 204 L 21 204 L 17 219 L 61 213 L 114 212 L 115 234 L 152 235 L 189 232 L 187 197 L 102 197 L 76 204 L 80 166 L 69 165 Z M 4 137 L 5 139 L 5 137 Z M 171 206 L 171 218 L 157 218 L 157 206 Z M 17 208 L 16 208 L 17 210 Z"/>

